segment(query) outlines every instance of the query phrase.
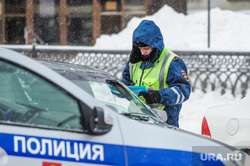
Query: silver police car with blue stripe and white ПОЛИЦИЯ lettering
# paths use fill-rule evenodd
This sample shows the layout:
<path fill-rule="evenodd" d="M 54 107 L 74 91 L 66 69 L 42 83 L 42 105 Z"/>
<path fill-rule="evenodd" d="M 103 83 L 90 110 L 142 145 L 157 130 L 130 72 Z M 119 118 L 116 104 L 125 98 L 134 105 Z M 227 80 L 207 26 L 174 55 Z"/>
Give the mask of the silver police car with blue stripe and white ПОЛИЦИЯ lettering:
<path fill-rule="evenodd" d="M 119 81 L 92 76 L 76 85 L 0 48 L 0 165 L 250 164 L 242 151 L 165 124 Z"/>

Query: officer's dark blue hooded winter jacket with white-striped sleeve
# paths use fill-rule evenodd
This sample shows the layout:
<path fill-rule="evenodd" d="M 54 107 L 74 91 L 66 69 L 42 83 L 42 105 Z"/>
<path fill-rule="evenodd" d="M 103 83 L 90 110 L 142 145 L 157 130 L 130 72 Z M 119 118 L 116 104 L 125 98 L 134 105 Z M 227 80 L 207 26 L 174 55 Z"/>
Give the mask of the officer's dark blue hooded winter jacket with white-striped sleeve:
<path fill-rule="evenodd" d="M 151 47 L 157 48 L 159 53 L 155 55 L 154 60 L 148 64 L 143 61 L 141 69 L 147 69 L 154 66 L 154 62 L 159 58 L 163 51 L 163 36 L 157 25 L 153 21 L 143 20 L 133 33 L 133 44 L 135 41 L 145 43 Z M 182 103 L 186 101 L 191 93 L 191 85 L 187 77 L 187 67 L 182 59 L 176 57 L 172 60 L 168 70 L 166 83 L 169 88 L 161 89 L 161 104 L 165 105 L 164 110 L 167 112 L 167 123 L 179 127 L 179 113 Z M 127 62 L 123 71 L 123 79 L 126 85 L 131 85 L 129 62 Z"/>

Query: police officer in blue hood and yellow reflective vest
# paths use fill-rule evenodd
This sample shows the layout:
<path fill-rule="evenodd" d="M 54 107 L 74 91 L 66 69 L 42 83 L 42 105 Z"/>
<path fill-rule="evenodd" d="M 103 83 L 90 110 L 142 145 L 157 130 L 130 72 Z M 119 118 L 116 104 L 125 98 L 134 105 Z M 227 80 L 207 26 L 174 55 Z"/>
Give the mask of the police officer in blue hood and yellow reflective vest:
<path fill-rule="evenodd" d="M 164 46 L 160 28 L 143 20 L 133 32 L 133 48 L 122 73 L 126 85 L 146 86 L 139 93 L 146 103 L 167 112 L 167 123 L 179 127 L 182 103 L 191 93 L 187 67 Z"/>

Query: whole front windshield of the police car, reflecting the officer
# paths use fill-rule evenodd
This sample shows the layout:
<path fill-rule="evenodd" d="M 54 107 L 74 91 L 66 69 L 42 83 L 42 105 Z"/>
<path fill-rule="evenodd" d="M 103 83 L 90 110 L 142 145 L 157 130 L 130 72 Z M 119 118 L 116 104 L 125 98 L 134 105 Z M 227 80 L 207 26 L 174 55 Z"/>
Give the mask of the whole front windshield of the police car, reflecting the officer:
<path fill-rule="evenodd" d="M 159 121 L 159 118 L 149 106 L 144 104 L 126 85 L 108 73 L 89 69 L 83 70 L 79 69 L 80 67 L 75 67 L 77 69 L 51 68 L 120 114 L 129 115 L 129 117 L 131 117 L 130 115 L 147 115 Z"/>

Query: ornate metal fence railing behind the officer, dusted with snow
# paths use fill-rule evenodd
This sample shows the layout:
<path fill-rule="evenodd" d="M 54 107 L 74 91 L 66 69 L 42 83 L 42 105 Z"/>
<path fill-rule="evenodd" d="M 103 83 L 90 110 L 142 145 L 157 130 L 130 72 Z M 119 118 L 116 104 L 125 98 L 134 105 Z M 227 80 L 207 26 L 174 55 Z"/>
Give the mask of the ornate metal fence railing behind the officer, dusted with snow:
<path fill-rule="evenodd" d="M 27 56 L 51 61 L 90 65 L 121 79 L 130 50 L 95 50 L 70 47 L 15 48 Z M 186 63 L 192 90 L 230 90 L 244 97 L 250 89 L 250 52 L 174 51 Z"/>

